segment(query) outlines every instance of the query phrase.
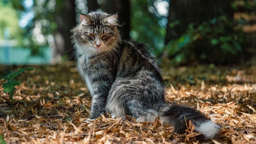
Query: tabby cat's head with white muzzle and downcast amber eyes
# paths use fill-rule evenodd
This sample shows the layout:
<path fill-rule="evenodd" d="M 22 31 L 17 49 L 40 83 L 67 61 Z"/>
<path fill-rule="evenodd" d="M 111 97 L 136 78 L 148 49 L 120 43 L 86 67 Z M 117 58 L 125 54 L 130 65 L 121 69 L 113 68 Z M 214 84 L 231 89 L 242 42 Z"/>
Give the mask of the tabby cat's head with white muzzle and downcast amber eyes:
<path fill-rule="evenodd" d="M 91 12 L 80 15 L 81 23 L 71 30 L 72 41 L 79 52 L 93 55 L 115 49 L 121 41 L 117 14 Z"/>

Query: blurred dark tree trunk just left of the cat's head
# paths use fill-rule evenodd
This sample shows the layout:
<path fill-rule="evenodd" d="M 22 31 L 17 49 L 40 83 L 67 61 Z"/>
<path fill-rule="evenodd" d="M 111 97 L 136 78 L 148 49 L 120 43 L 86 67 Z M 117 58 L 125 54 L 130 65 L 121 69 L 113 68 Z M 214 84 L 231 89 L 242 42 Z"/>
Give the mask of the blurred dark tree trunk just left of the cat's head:
<path fill-rule="evenodd" d="M 54 19 L 58 25 L 54 34 L 53 63 L 61 60 L 61 55 L 66 52 L 69 60 L 74 60 L 74 50 L 71 46 L 70 29 L 76 26 L 76 4 L 74 0 L 63 0 L 61 6 L 57 7 Z"/>

